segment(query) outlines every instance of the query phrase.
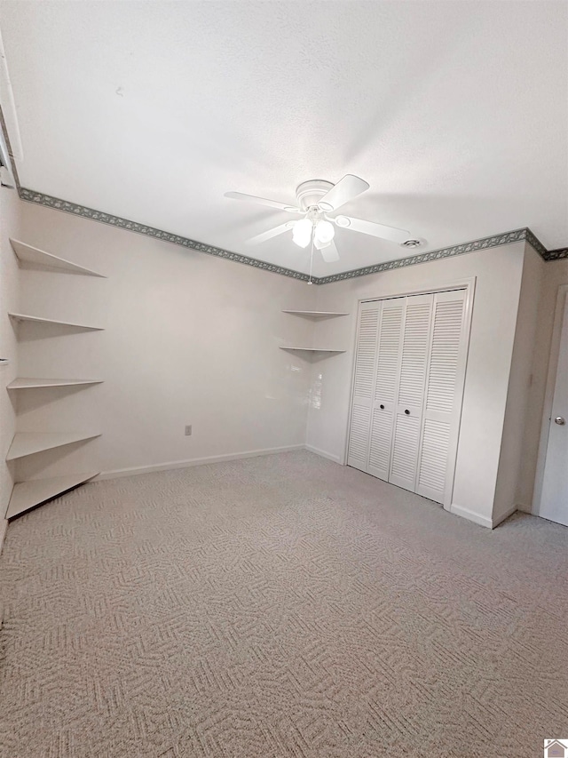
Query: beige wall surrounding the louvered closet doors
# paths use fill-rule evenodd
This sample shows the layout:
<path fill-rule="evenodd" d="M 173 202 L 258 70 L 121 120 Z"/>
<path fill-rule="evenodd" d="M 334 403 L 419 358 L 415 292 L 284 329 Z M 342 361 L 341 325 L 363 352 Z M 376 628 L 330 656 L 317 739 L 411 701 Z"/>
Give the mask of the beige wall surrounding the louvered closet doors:
<path fill-rule="evenodd" d="M 314 366 L 308 445 L 343 460 L 358 300 L 435 290 L 475 277 L 452 507 L 491 526 L 524 257 L 525 243 L 515 243 L 318 287 L 319 309 L 350 315 L 318 326 L 319 343 L 346 352 Z"/>

